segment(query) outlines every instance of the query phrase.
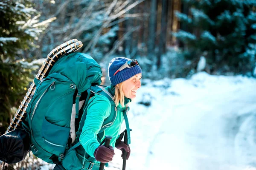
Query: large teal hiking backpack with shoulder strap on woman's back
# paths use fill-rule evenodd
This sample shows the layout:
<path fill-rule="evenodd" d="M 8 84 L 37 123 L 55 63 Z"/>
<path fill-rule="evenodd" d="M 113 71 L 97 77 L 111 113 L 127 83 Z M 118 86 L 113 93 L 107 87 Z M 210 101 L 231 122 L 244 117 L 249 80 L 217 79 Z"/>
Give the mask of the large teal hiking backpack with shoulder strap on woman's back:
<path fill-rule="evenodd" d="M 34 80 L 36 91 L 22 125 L 30 134 L 30 149 L 35 156 L 48 163 L 59 164 L 73 150 L 75 156 L 84 154 L 84 159 L 79 158 L 79 161 L 85 160 L 79 136 L 86 119 L 83 112 L 93 94 L 104 95 L 111 102 L 111 116 L 103 122 L 98 136 L 98 141 L 102 142 L 100 134 L 113 125 L 117 112 L 113 96 L 99 86 L 101 77 L 101 67 L 92 57 L 72 52 L 61 56 L 47 77 L 41 81 Z M 83 151 L 76 153 L 76 147 Z M 94 158 L 87 156 L 87 160 L 94 161 Z M 82 166 L 79 161 L 77 163 Z"/>

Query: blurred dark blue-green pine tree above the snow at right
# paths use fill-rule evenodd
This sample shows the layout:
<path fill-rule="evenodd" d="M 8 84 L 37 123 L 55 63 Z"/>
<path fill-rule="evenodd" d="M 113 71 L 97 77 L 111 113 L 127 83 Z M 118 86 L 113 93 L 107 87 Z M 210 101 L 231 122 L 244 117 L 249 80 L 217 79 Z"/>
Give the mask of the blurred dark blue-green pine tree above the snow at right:
<path fill-rule="evenodd" d="M 190 14 L 176 12 L 187 31 L 174 33 L 186 59 L 204 56 L 211 72 L 252 72 L 256 55 L 255 0 L 183 0 Z M 193 29 L 192 29 L 193 28 Z M 196 62 L 192 62 L 192 68 Z"/>

